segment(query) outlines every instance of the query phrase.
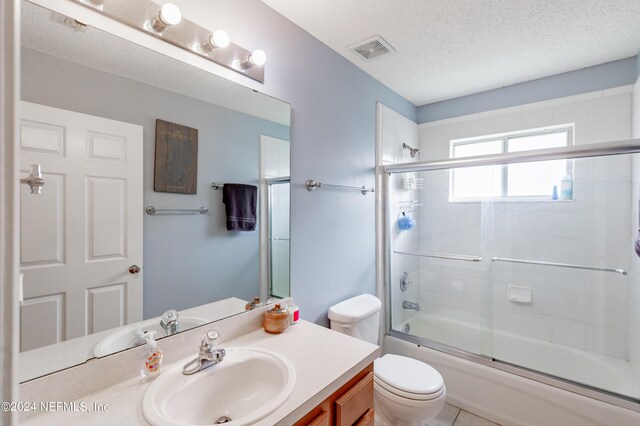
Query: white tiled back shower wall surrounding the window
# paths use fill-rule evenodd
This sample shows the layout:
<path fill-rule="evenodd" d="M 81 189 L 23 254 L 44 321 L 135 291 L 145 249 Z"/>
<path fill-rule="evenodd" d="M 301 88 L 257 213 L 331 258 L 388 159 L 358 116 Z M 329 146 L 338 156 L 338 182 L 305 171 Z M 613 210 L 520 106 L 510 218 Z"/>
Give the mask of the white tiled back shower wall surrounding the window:
<path fill-rule="evenodd" d="M 421 160 L 448 158 L 452 139 L 568 123 L 575 125 L 576 145 L 628 139 L 631 91 L 624 86 L 426 123 Z M 497 331 L 627 359 L 627 277 L 489 261 L 629 268 L 630 157 L 576 160 L 574 167 L 573 202 L 450 203 L 448 171 L 423 173 L 420 250 L 485 258 L 479 264 L 420 260 L 423 312 L 479 328 L 482 303 L 491 303 L 493 321 L 484 324 Z M 530 287 L 532 303 L 509 301 L 508 285 Z"/>

